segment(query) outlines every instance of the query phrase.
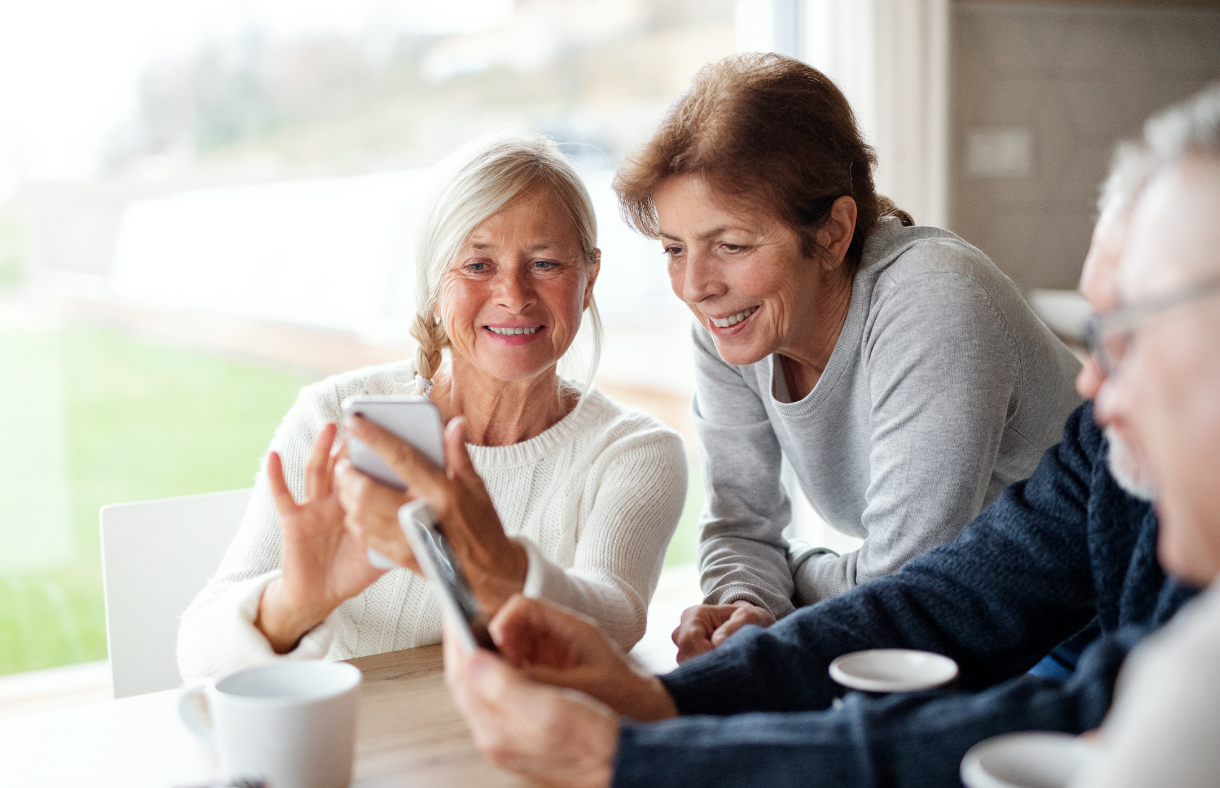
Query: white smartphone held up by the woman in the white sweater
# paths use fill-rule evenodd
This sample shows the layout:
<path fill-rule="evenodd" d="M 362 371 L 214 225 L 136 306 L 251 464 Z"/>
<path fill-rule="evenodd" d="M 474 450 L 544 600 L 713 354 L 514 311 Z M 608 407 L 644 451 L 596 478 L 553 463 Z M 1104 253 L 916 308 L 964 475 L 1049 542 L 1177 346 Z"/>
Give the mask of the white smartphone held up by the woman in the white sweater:
<path fill-rule="evenodd" d="M 445 467 L 444 428 L 437 406 L 417 396 L 360 395 L 343 400 L 343 415 L 360 415 L 384 427 L 423 453 L 440 467 Z M 351 465 L 382 484 L 405 490 L 406 482 L 359 438 L 348 435 L 348 454 Z M 379 570 L 392 570 L 396 564 L 368 548 L 368 562 Z"/>

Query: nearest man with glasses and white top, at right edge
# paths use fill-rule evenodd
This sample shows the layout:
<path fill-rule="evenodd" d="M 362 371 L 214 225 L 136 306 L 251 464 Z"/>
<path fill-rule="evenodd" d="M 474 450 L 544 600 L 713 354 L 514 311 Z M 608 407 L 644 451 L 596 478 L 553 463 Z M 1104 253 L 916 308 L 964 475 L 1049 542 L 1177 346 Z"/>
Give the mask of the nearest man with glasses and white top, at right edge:
<path fill-rule="evenodd" d="M 1132 654 L 1088 788 L 1220 783 L 1220 91 L 1149 129 L 1121 309 L 1093 320 L 1097 412 L 1147 459 L 1160 562 L 1208 590 Z"/>

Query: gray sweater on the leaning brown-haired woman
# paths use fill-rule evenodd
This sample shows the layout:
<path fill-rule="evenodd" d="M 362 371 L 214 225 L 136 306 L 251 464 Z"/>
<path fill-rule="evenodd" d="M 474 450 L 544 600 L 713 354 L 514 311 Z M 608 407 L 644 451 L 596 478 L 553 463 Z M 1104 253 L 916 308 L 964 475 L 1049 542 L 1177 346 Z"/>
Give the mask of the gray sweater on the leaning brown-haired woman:
<path fill-rule="evenodd" d="M 703 448 L 699 566 L 708 604 L 784 616 L 952 542 L 1033 472 L 1080 404 L 1080 362 L 981 251 L 933 227 L 881 220 L 847 321 L 808 396 L 789 401 L 772 355 L 726 364 L 694 328 Z M 781 455 L 853 553 L 792 544 Z"/>

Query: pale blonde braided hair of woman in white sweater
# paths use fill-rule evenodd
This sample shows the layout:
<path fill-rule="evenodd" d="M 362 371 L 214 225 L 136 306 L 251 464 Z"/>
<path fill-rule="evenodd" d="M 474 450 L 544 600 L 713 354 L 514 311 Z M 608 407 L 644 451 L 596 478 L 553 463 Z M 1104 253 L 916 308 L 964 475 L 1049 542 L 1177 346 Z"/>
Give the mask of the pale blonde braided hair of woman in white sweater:
<path fill-rule="evenodd" d="M 576 170 L 554 140 L 516 123 L 498 123 L 467 140 L 437 165 L 432 210 L 420 233 L 416 254 L 416 315 L 411 335 L 418 343 L 415 368 L 420 394 L 440 367 L 450 346 L 440 322 L 440 285 L 461 245 L 475 228 L 512 198 L 540 185 L 554 194 L 572 220 L 584 261 L 598 261 L 598 220 Z M 584 382 L 593 383 L 601 355 L 601 317 L 589 299 L 593 360 Z M 573 343 L 575 344 L 575 343 Z M 582 398 L 583 403 L 583 398 Z"/>

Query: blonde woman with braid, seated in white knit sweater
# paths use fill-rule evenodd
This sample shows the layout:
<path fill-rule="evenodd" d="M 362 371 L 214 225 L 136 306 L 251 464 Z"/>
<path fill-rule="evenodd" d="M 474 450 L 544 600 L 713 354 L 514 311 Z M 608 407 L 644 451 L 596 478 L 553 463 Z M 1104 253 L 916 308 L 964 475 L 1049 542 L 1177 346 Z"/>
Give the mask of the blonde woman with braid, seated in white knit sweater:
<path fill-rule="evenodd" d="M 593 617 L 625 649 L 643 636 L 686 460 L 676 433 L 556 373 L 584 311 L 600 342 L 599 257 L 588 193 L 554 143 L 501 131 L 447 159 L 420 240 L 415 359 L 303 389 L 220 571 L 183 616 L 184 677 L 440 640 L 427 582 L 365 559 L 371 545 L 414 565 L 394 525 L 410 495 L 339 450 L 354 394 L 422 394 L 440 410 L 448 473 L 362 420 L 344 429 L 411 465 L 490 612 L 523 592 Z"/>

